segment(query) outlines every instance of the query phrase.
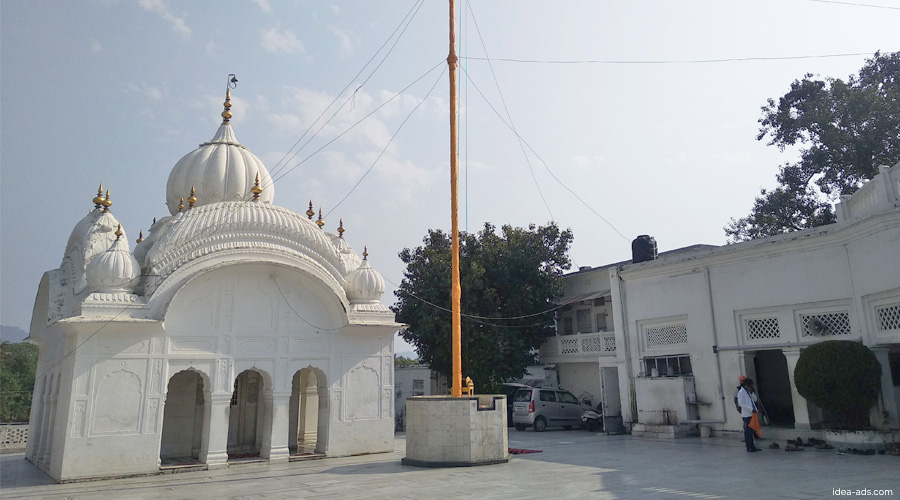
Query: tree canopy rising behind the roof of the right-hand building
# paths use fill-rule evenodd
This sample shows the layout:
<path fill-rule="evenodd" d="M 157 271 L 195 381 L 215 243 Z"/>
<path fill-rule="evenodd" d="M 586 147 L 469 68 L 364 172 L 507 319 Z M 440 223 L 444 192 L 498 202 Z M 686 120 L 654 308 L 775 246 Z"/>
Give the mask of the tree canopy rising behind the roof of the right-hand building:
<path fill-rule="evenodd" d="M 750 214 L 725 234 L 745 241 L 835 222 L 832 203 L 900 160 L 900 52 L 866 60 L 846 82 L 807 74 L 762 108 L 757 140 L 800 160 L 781 166 L 778 187 L 760 191 Z"/>

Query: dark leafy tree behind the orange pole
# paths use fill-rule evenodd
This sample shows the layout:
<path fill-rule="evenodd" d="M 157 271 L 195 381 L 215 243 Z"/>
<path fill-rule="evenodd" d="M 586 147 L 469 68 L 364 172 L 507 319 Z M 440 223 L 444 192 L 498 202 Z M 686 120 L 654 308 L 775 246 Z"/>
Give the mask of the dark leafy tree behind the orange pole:
<path fill-rule="evenodd" d="M 460 233 L 462 369 L 479 392 L 496 390 L 534 364 L 533 349 L 553 331 L 553 300 L 562 296 L 572 232 L 556 224 L 527 229 L 485 224 Z M 429 230 L 424 245 L 405 248 L 397 320 L 419 359 L 449 377 L 451 359 L 450 237 Z"/>

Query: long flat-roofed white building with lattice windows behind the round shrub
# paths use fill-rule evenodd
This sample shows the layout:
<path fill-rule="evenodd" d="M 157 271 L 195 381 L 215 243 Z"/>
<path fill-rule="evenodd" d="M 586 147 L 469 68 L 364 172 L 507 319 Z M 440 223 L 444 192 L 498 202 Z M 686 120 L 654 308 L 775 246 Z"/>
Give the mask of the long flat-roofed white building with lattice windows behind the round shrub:
<path fill-rule="evenodd" d="M 600 391 L 635 433 L 739 430 L 740 375 L 773 424 L 810 429 L 827 415 L 796 390 L 801 350 L 856 340 L 882 366 L 872 424 L 900 428 L 900 164 L 837 208 L 829 226 L 568 275 L 541 361 L 569 390 Z"/>

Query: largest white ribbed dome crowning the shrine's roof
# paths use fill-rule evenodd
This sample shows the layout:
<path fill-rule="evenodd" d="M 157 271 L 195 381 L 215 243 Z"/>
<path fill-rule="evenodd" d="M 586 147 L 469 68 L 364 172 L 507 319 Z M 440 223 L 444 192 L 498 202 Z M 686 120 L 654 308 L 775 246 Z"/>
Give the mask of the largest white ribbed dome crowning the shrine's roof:
<path fill-rule="evenodd" d="M 169 213 L 178 213 L 181 198 L 187 200 L 191 187 L 196 192 L 195 206 L 249 200 L 257 174 L 263 188 L 259 201 L 272 203 L 275 190 L 269 171 L 259 158 L 237 141 L 231 124 L 223 122 L 215 137 L 184 155 L 172 168 L 166 184 Z M 187 201 L 184 205 L 187 207 Z"/>

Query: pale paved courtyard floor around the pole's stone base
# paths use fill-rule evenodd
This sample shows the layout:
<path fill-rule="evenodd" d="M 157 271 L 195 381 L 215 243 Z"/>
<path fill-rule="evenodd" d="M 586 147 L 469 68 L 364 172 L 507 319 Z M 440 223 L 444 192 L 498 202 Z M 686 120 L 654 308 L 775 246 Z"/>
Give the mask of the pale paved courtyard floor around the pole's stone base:
<path fill-rule="evenodd" d="M 0 498 L 816 499 L 877 490 L 900 498 L 900 457 L 791 453 L 783 442 L 780 450 L 747 453 L 737 436 L 661 441 L 510 429 L 511 448 L 541 453 L 455 469 L 401 465 L 405 444 L 398 434 L 394 453 L 70 484 L 53 483 L 22 454 L 5 455 Z"/>

